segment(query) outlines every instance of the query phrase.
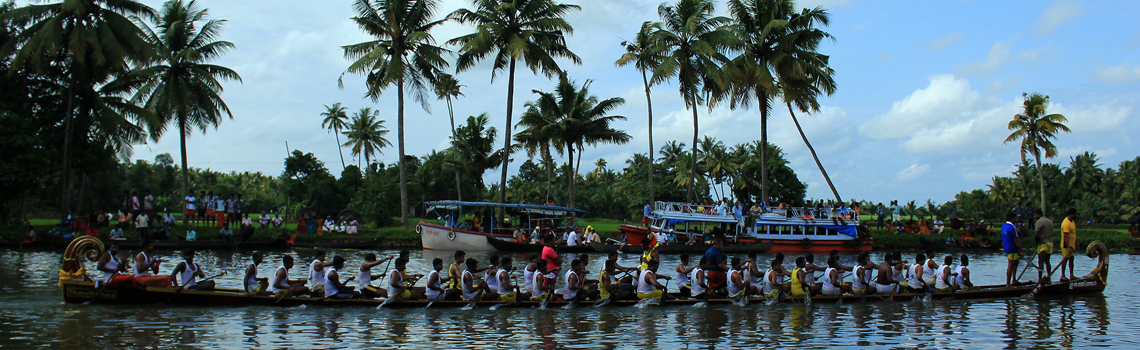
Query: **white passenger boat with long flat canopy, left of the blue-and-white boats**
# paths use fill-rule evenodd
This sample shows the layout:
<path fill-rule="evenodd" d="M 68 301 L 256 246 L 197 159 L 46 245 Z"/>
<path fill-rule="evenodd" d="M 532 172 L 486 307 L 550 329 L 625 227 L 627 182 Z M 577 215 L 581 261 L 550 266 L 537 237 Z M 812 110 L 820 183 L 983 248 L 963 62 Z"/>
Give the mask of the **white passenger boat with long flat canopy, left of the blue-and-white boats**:
<path fill-rule="evenodd" d="M 420 221 L 416 225 L 416 233 L 423 242 L 425 250 L 443 251 L 497 251 L 488 243 L 487 238 L 511 241 L 514 239 L 514 231 L 519 228 L 530 229 L 537 225 L 546 228 L 575 227 L 586 211 L 568 206 L 540 205 L 540 204 L 516 204 L 516 203 L 487 203 L 487 202 L 461 202 L 439 201 L 427 202 L 427 211 L 439 218 L 439 223 Z M 472 209 L 503 209 L 507 215 L 518 217 L 522 222 L 519 227 L 498 226 L 497 222 L 486 220 L 482 227 L 463 228 L 466 222 L 458 222 L 457 218 L 463 218 L 465 211 Z M 491 215 L 487 215 L 491 217 Z"/>

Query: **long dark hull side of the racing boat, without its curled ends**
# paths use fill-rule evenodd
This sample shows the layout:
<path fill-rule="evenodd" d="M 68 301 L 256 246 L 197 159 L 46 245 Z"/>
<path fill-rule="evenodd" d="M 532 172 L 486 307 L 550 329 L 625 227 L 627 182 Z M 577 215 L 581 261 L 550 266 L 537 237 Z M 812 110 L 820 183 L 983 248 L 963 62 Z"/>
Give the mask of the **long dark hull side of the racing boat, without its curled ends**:
<path fill-rule="evenodd" d="M 785 298 L 779 300 L 782 303 L 856 303 L 856 302 L 882 302 L 882 301 L 910 301 L 917 299 L 925 299 L 929 295 L 933 300 L 977 300 L 977 299 L 1001 299 L 1001 298 L 1018 298 L 1033 293 L 1035 285 L 1033 284 L 1021 284 L 1015 287 L 1002 287 L 1002 286 L 986 286 L 979 287 L 971 291 L 959 291 L 956 293 L 898 293 L 895 295 L 889 294 L 871 294 L 868 296 L 861 295 L 840 295 L 840 296 L 812 296 L 809 300 L 805 298 Z M 384 303 L 384 300 L 378 299 L 324 299 L 324 298 L 277 298 L 272 295 L 246 295 L 238 290 L 220 290 L 213 292 L 202 292 L 202 291 L 190 291 L 190 290 L 176 290 L 176 288 L 164 288 L 164 287 L 145 287 L 145 288 L 133 288 L 133 287 L 106 287 L 98 291 L 95 284 L 91 282 L 74 282 L 67 280 L 62 283 L 62 292 L 64 301 L 68 303 L 111 303 L 111 304 L 186 304 L 186 306 L 209 306 L 209 307 L 245 307 L 245 306 L 276 306 L 276 307 L 292 307 L 292 306 L 345 306 L 345 307 L 370 307 L 375 308 Z M 662 301 L 662 306 L 692 306 L 703 300 L 700 299 L 675 299 Z M 578 304 L 594 306 L 597 301 L 581 301 Z M 734 301 L 730 299 L 709 299 L 710 304 L 727 304 L 727 303 L 742 303 L 743 301 Z M 768 302 L 767 299 L 757 296 L 748 299 L 748 303 L 765 303 Z M 426 300 L 412 300 L 412 301 L 397 301 L 391 302 L 385 308 L 423 308 L 426 307 L 429 301 Z M 498 301 L 480 301 L 479 306 L 494 306 L 500 304 Z M 568 301 L 554 300 L 547 303 L 547 307 L 562 307 L 568 304 Z M 621 307 L 632 306 L 637 303 L 637 300 L 613 300 L 606 303 L 608 306 Z M 432 303 L 433 308 L 462 308 L 470 304 L 469 301 L 437 301 Z M 507 307 L 538 307 L 542 303 L 539 301 L 521 301 L 516 303 L 507 304 Z"/>

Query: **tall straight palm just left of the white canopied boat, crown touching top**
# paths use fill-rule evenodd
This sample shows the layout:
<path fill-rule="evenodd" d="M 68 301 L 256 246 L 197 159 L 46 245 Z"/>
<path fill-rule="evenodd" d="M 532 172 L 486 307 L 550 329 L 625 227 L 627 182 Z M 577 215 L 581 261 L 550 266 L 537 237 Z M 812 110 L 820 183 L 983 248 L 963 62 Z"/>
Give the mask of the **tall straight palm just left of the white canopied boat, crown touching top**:
<path fill-rule="evenodd" d="M 368 97 L 376 101 L 384 89 L 396 86 L 396 131 L 400 149 L 400 225 L 408 228 L 408 180 L 405 170 L 404 90 L 429 111 L 427 86 L 434 84 L 447 67 L 443 54 L 435 46 L 431 30 L 443 23 L 435 21 L 438 0 L 356 0 L 352 21 L 375 40 L 344 46 L 344 57 L 352 60 L 345 73 L 367 76 Z"/>

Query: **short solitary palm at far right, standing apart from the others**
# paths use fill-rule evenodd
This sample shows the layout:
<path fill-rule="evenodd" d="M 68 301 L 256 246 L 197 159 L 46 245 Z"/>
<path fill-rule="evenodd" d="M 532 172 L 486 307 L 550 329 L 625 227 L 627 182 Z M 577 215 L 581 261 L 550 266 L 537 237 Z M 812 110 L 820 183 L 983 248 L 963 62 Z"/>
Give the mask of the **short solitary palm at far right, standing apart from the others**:
<path fill-rule="evenodd" d="M 1013 132 L 1002 144 L 1021 140 L 1021 161 L 1025 161 L 1028 155 L 1033 155 L 1037 162 L 1037 169 L 1041 169 L 1042 153 L 1044 153 L 1045 158 L 1057 156 L 1057 146 L 1053 145 L 1052 139 L 1057 138 L 1058 132 L 1070 131 L 1065 125 L 1068 120 L 1057 113 L 1045 114 L 1049 96 L 1033 92 L 1033 95 L 1021 93 L 1021 97 L 1025 98 L 1021 104 L 1025 109 L 1013 115 L 1013 120 L 1009 122 L 1009 130 L 1013 130 Z M 1047 212 L 1045 179 L 1042 173 L 1037 172 L 1037 181 L 1041 182 L 1041 211 Z"/>

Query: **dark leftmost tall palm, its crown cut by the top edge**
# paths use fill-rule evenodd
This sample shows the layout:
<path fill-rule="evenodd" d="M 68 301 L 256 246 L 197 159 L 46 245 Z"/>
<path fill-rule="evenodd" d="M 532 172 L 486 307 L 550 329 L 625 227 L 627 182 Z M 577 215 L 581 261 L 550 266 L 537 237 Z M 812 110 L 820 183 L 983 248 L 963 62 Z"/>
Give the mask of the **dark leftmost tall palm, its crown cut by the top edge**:
<path fill-rule="evenodd" d="M 155 18 L 154 9 L 136 0 L 63 0 L 28 5 L 3 14 L 0 22 L 27 23 L 0 52 L 15 52 L 8 74 L 30 68 L 36 74 L 64 68 L 68 81 L 64 117 L 60 215 L 71 211 L 71 158 L 75 98 L 130 70 L 153 54 L 141 30 L 128 16 Z"/>

